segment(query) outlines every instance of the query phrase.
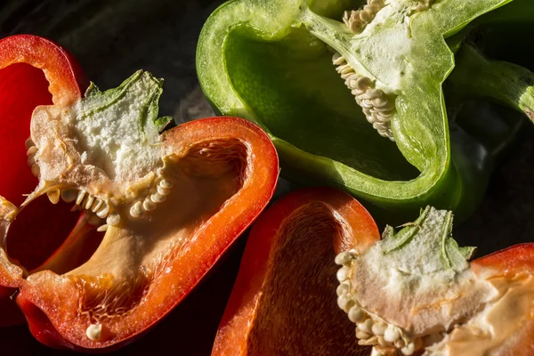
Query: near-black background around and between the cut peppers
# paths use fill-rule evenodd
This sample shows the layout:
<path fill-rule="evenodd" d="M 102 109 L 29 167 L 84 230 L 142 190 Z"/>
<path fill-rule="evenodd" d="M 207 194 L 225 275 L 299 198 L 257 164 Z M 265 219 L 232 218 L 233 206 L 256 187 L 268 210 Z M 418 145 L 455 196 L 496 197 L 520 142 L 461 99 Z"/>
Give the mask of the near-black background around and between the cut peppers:
<path fill-rule="evenodd" d="M 217 4 L 210 0 L 22 0 L 0 2 L 0 37 L 46 36 L 74 53 L 101 89 L 119 85 L 137 69 L 166 79 L 160 114 L 179 123 L 213 115 L 195 73 L 198 33 Z M 480 209 L 455 228 L 477 256 L 534 238 L 534 126 L 526 125 L 503 158 Z M 282 173 L 283 174 L 283 173 Z M 278 194 L 294 187 L 282 182 Z M 245 246 L 240 239 L 223 263 L 147 336 L 120 355 L 208 355 Z M 2 316 L 0 315 L 0 318 Z M 0 328 L 1 355 L 67 355 L 38 344 L 26 327 Z"/>

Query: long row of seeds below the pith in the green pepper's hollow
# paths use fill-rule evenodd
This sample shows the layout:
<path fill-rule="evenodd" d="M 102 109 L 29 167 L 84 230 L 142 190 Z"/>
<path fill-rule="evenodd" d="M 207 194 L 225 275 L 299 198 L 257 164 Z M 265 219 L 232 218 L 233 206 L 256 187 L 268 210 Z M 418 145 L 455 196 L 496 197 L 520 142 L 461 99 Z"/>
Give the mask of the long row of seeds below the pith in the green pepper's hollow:
<path fill-rule="evenodd" d="M 351 90 L 368 122 L 378 134 L 395 141 L 391 128 L 391 119 L 395 113 L 393 99 L 384 91 L 373 88 L 373 81 L 357 74 L 341 54 L 335 53 L 332 62 L 337 66 L 336 71 L 344 78 L 345 85 Z"/>

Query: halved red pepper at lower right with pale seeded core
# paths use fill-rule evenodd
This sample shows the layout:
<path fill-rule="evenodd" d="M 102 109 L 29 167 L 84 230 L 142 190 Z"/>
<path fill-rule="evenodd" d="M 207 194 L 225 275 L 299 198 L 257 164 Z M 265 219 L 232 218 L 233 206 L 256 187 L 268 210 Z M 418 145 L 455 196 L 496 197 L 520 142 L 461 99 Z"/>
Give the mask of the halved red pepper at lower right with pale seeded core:
<path fill-rule="evenodd" d="M 346 193 L 281 198 L 253 225 L 212 355 L 531 354 L 534 244 L 468 262 L 452 218 L 427 207 L 380 239 Z"/>

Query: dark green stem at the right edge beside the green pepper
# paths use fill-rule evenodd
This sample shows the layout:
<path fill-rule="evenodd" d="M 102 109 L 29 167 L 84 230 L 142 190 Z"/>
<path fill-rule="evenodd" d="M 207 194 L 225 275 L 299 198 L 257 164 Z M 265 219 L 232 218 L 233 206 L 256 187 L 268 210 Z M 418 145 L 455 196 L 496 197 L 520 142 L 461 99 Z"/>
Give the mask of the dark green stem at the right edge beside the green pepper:
<path fill-rule="evenodd" d="M 506 61 L 489 61 L 465 44 L 449 83 L 469 95 L 486 96 L 525 113 L 534 122 L 534 73 Z"/>

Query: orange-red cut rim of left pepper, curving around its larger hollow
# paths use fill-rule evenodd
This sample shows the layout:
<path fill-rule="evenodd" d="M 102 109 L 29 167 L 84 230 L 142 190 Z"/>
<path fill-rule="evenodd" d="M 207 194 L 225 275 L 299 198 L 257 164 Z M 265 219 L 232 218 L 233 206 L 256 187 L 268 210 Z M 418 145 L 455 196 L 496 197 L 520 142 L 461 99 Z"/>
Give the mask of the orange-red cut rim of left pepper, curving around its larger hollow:
<path fill-rule="evenodd" d="M 54 284 L 53 272 L 42 271 L 39 272 L 41 276 L 50 277 L 50 280 L 36 283 L 35 279 L 24 279 L 16 297 L 37 340 L 53 348 L 108 352 L 142 336 L 190 294 L 267 205 L 278 180 L 279 161 L 269 137 L 258 126 L 237 117 L 196 120 L 163 134 L 164 146 L 177 152 L 189 150 L 193 142 L 228 138 L 239 138 L 248 148 L 242 188 L 208 221 L 201 222 L 187 252 L 171 262 L 169 271 L 172 272 L 150 282 L 148 294 L 143 296 L 135 311 L 113 321 L 120 327 L 114 329 L 119 331 L 98 344 L 89 340 L 85 336 L 86 320 L 77 314 L 77 299 L 69 297 L 72 295 L 69 291 L 74 289 Z"/>

